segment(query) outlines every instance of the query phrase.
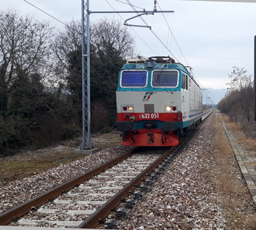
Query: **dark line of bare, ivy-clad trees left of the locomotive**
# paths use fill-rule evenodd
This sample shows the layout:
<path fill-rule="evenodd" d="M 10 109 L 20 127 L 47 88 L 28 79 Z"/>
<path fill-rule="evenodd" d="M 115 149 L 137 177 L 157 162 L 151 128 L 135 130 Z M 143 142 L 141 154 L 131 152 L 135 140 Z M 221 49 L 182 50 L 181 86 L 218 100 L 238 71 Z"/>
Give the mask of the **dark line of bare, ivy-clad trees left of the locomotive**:
<path fill-rule="evenodd" d="M 90 25 L 91 129 L 116 123 L 118 72 L 136 56 L 121 21 Z M 63 29 L 8 8 L 0 11 L 0 154 L 74 138 L 82 130 L 81 21 Z"/>

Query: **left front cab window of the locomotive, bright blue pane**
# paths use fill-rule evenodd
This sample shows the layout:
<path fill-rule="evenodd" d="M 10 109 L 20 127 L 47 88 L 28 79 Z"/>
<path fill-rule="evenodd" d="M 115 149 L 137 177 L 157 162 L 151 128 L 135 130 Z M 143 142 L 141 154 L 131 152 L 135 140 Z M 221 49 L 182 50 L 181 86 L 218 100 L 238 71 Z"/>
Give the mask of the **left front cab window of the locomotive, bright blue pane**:
<path fill-rule="evenodd" d="M 145 70 L 124 70 L 121 73 L 120 85 L 121 87 L 146 87 L 147 74 Z"/>

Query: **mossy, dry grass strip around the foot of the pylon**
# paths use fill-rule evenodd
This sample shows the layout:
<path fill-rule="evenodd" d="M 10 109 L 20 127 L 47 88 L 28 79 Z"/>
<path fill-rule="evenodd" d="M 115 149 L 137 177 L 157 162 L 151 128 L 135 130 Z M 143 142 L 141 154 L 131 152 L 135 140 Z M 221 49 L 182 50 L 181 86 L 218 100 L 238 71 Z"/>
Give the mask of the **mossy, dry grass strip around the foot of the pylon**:
<path fill-rule="evenodd" d="M 74 156 L 74 149 L 72 148 L 78 148 L 81 140 L 81 138 L 75 138 L 60 142 L 54 146 L 49 146 L 39 152 L 35 151 L 25 155 L 17 154 L 0 159 L 0 184 L 8 184 L 9 182 L 20 180 L 33 175 L 34 173 L 40 173 L 84 157 L 84 155 Z M 92 136 L 92 143 L 100 150 L 118 146 L 121 142 L 122 138 L 118 134 Z M 71 147 L 71 149 L 64 149 L 61 151 L 52 150 L 52 148 L 57 147 L 59 144 Z M 56 162 L 70 156 L 74 157 Z"/>

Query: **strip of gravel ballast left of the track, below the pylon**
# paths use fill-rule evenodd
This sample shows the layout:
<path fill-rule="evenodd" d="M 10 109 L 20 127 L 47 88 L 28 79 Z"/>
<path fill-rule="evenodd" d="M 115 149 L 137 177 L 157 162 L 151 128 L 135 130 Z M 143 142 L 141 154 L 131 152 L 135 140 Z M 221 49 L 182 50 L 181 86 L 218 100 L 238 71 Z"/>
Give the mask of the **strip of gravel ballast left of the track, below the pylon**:
<path fill-rule="evenodd" d="M 60 165 L 43 173 L 14 181 L 0 188 L 0 213 L 48 191 L 55 186 L 85 173 L 130 150 L 131 147 L 117 146 L 85 156 L 72 163 Z"/>

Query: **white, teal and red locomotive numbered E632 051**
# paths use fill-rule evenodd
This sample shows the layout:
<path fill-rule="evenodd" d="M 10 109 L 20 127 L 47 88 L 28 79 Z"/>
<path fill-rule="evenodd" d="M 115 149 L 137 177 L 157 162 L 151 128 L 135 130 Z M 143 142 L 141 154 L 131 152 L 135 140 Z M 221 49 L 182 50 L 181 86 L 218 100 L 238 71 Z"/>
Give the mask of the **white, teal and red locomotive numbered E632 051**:
<path fill-rule="evenodd" d="M 116 127 L 128 146 L 175 146 L 202 120 L 199 85 L 169 56 L 127 60 L 116 105 Z"/>

